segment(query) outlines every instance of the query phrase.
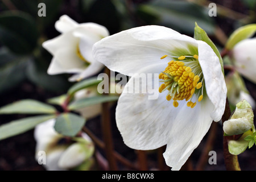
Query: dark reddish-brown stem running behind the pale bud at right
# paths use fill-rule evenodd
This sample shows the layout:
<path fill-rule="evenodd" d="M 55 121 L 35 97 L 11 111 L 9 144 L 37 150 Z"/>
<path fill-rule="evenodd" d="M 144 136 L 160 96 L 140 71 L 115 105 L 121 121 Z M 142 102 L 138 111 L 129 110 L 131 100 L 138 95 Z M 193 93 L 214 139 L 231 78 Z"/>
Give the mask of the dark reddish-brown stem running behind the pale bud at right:
<path fill-rule="evenodd" d="M 228 99 L 226 100 L 225 112 L 222 116 L 222 123 L 227 121 L 231 115 Z M 224 160 L 227 171 L 241 171 L 240 165 L 238 163 L 237 155 L 232 155 L 229 153 L 228 142 L 232 140 L 233 136 L 224 136 L 223 137 L 223 152 Z"/>

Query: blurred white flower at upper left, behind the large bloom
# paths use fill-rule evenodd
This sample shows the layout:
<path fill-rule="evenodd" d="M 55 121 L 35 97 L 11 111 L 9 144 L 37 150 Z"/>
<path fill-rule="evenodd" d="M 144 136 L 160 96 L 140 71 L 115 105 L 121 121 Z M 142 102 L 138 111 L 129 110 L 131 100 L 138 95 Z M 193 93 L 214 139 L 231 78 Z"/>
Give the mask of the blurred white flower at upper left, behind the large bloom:
<path fill-rule="evenodd" d="M 101 71 L 104 65 L 93 59 L 92 47 L 109 35 L 104 26 L 79 24 L 63 15 L 55 23 L 55 28 L 61 35 L 43 43 L 43 47 L 53 55 L 47 71 L 49 75 L 76 73 L 69 80 L 77 81 Z"/>

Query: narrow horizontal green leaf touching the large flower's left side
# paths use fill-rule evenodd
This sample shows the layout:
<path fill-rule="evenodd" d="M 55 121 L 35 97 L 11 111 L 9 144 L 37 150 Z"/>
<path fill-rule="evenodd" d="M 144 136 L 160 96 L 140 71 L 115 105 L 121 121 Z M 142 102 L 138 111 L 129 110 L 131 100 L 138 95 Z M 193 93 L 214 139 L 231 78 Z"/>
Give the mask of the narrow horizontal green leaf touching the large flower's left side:
<path fill-rule="evenodd" d="M 82 98 L 80 100 L 73 101 L 69 106 L 69 110 L 77 110 L 83 107 L 87 107 L 94 104 L 100 104 L 104 102 L 117 101 L 118 96 L 94 96 L 89 98 Z"/>

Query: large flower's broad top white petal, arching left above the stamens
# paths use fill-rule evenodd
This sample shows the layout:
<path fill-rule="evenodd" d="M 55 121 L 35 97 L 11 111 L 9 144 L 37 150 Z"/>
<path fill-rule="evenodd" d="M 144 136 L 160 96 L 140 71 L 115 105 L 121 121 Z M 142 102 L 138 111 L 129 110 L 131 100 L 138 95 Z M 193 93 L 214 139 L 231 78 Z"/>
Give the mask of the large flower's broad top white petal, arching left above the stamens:
<path fill-rule="evenodd" d="M 131 76 L 132 73 L 140 73 L 140 69 L 146 65 L 167 61 L 160 60 L 164 55 L 190 53 L 191 47 L 197 47 L 195 39 L 180 35 L 170 28 L 144 26 L 100 40 L 94 44 L 93 55 L 112 71 Z"/>

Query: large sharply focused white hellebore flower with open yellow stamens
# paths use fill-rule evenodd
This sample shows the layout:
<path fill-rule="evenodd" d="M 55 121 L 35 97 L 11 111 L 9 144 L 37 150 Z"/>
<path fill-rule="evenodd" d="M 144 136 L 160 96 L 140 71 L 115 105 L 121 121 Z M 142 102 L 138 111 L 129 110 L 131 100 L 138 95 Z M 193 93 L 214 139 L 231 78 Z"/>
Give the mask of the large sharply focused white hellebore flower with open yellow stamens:
<path fill-rule="evenodd" d="M 170 28 L 143 26 L 100 40 L 93 53 L 97 61 L 131 79 L 133 73 L 159 73 L 159 88 L 121 94 L 117 126 L 131 148 L 153 150 L 167 144 L 166 163 L 179 170 L 212 121 L 224 113 L 226 85 L 213 49 Z M 124 89 L 130 86 L 129 80 Z M 148 100 L 152 91 L 160 92 L 156 100 Z"/>

